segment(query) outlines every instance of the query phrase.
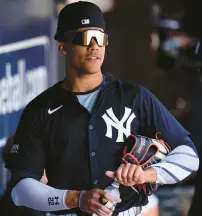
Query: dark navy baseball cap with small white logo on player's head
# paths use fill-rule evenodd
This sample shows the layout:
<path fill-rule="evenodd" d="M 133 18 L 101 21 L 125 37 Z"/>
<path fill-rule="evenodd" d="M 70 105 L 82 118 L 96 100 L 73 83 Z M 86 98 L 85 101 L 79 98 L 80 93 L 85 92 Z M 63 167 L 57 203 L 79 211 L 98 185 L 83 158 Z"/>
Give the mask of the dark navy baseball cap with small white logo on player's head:
<path fill-rule="evenodd" d="M 86 1 L 66 5 L 59 14 L 55 40 L 63 41 L 69 30 L 82 27 L 98 27 L 105 30 L 105 21 L 101 9 Z"/>

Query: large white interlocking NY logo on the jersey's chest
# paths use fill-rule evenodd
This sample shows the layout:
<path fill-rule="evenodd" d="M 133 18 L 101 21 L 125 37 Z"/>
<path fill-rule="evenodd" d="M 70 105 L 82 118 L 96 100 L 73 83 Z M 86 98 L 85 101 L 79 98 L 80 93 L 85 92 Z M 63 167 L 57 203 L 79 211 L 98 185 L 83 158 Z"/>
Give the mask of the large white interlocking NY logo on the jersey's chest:
<path fill-rule="evenodd" d="M 105 120 L 107 125 L 107 132 L 105 134 L 106 137 L 112 138 L 112 127 L 118 130 L 118 137 L 116 142 L 123 142 L 124 141 L 124 134 L 128 137 L 131 134 L 131 123 L 133 119 L 136 117 L 134 113 L 131 113 L 132 110 L 125 107 L 125 112 L 122 119 L 119 121 L 117 117 L 114 115 L 112 108 L 106 110 L 107 114 L 105 113 L 102 118 Z M 126 122 L 126 128 L 124 128 L 124 123 Z"/>

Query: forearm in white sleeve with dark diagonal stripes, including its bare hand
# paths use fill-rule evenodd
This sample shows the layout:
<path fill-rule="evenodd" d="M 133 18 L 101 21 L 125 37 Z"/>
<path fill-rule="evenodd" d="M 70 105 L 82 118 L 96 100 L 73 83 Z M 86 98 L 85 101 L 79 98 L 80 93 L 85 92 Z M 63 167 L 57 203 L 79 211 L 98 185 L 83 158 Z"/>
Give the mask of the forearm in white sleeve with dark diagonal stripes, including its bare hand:
<path fill-rule="evenodd" d="M 107 172 L 107 176 L 115 176 L 121 184 L 132 186 L 143 183 L 175 184 L 198 170 L 199 158 L 189 137 L 182 145 L 176 147 L 160 163 L 153 164 L 146 169 L 134 164 L 122 164 L 116 174 Z"/>

